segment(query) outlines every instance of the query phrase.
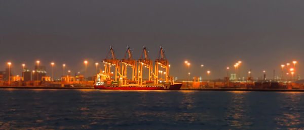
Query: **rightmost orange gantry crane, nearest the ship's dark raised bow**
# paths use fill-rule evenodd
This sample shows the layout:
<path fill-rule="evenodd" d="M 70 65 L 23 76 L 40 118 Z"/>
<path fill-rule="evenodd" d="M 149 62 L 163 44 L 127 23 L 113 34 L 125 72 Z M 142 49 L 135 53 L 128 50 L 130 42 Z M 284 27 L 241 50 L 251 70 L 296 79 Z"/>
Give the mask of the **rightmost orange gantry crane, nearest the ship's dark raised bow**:
<path fill-rule="evenodd" d="M 155 59 L 155 81 L 154 83 L 158 84 L 158 75 L 159 75 L 159 66 L 161 66 L 161 68 L 164 68 L 166 69 L 166 73 L 165 74 L 165 77 L 166 77 L 166 82 L 168 82 L 168 77 L 169 77 L 169 61 L 167 60 L 166 56 L 165 56 L 165 53 L 164 53 L 164 48 L 161 46 L 160 47 L 160 51 L 159 51 L 159 54 L 157 56 L 157 58 Z"/>

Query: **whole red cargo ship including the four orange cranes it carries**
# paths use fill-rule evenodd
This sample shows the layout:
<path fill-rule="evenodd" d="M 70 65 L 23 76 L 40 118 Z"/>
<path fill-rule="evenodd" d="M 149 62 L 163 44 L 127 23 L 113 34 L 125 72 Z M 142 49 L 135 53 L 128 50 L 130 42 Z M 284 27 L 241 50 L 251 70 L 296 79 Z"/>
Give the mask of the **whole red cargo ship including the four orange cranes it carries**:
<path fill-rule="evenodd" d="M 95 89 L 180 90 L 182 86 L 181 83 L 175 83 L 173 77 L 169 76 L 170 64 L 166 59 L 163 47 L 160 47 L 155 62 L 150 60 L 145 47 L 138 60 L 133 59 L 130 47 L 127 47 L 125 56 L 121 60 L 116 58 L 113 48 L 110 47 L 110 51 L 102 63 L 104 70 L 100 70 L 96 75 Z M 130 79 L 127 78 L 128 67 L 132 69 Z M 143 80 L 143 71 L 147 72 L 145 80 Z"/>

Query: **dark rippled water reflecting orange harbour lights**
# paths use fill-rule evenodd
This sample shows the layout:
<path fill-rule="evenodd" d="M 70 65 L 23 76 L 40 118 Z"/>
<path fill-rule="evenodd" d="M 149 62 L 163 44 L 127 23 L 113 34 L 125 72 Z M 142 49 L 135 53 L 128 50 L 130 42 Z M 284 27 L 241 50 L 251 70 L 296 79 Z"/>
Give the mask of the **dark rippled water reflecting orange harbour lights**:
<path fill-rule="evenodd" d="M 0 129 L 304 128 L 304 93 L 0 90 Z"/>

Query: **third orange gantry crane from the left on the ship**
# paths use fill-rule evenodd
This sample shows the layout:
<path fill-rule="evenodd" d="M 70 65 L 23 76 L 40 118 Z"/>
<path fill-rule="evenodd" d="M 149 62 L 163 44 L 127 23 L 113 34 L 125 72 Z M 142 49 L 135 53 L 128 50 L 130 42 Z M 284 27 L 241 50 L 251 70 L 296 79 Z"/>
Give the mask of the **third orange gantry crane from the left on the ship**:
<path fill-rule="evenodd" d="M 144 56 L 144 57 L 143 57 Z M 142 85 L 142 68 L 149 69 L 149 78 L 151 80 L 151 72 L 153 72 L 153 61 L 150 60 L 146 47 L 143 47 L 140 58 L 138 59 L 138 85 Z"/>

